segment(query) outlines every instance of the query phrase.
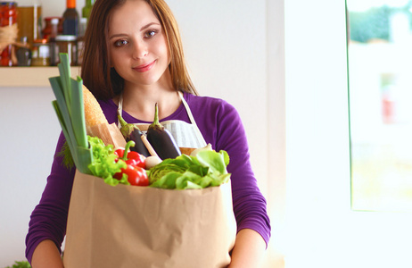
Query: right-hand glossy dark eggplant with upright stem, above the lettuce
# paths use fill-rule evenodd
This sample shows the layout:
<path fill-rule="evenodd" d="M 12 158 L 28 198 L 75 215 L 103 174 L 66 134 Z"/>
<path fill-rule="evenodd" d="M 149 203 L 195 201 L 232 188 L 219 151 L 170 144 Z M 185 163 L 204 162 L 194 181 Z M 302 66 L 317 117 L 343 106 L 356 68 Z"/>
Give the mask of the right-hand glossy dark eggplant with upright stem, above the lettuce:
<path fill-rule="evenodd" d="M 182 155 L 175 138 L 169 130 L 166 130 L 159 122 L 159 107 L 154 105 L 154 120 L 146 132 L 146 138 L 156 151 L 161 160 L 166 158 L 176 158 Z"/>

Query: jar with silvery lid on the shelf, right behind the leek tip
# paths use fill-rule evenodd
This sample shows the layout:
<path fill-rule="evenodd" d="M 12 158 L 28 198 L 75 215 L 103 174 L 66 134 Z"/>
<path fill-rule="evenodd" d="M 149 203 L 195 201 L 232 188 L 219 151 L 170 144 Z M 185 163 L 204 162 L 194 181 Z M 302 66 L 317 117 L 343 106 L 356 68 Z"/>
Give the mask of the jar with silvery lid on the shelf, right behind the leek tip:
<path fill-rule="evenodd" d="M 76 66 L 78 64 L 78 46 L 77 37 L 71 35 L 60 35 L 55 38 L 54 46 L 54 63 L 60 63 L 60 53 L 67 53 L 70 59 L 70 65 Z"/>

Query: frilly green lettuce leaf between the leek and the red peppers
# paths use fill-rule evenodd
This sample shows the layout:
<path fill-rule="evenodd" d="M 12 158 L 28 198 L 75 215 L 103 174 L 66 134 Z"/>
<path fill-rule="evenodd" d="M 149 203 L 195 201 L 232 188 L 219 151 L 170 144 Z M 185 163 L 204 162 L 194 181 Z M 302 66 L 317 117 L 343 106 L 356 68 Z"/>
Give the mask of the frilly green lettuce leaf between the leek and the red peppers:
<path fill-rule="evenodd" d="M 113 177 L 114 174 L 121 172 L 122 168 L 128 166 L 126 162 L 119 159 L 119 155 L 114 154 L 113 146 L 104 145 L 101 138 L 87 136 L 87 139 L 93 152 L 93 161 L 88 164 L 90 172 L 96 177 L 103 178 L 104 182 L 111 186 L 119 183 L 129 185 L 127 176 L 122 176 L 120 180 Z"/>

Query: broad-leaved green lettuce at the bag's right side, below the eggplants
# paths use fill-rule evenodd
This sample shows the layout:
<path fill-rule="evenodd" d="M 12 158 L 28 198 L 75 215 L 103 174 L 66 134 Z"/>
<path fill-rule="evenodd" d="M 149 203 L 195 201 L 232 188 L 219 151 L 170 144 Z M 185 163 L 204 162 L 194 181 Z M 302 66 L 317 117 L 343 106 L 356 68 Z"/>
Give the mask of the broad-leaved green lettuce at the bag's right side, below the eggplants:
<path fill-rule="evenodd" d="M 196 156 L 179 155 L 152 167 L 147 173 L 153 188 L 207 188 L 230 179 L 226 151 L 203 150 Z"/>

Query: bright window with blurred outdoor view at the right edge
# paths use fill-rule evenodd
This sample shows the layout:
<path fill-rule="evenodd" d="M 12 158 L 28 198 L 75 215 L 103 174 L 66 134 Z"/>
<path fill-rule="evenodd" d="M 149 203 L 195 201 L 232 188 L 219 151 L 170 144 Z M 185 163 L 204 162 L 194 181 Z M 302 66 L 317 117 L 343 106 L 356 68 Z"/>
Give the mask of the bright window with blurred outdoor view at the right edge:
<path fill-rule="evenodd" d="M 347 7 L 352 208 L 412 211 L 412 2 Z"/>

